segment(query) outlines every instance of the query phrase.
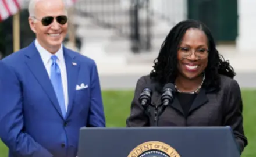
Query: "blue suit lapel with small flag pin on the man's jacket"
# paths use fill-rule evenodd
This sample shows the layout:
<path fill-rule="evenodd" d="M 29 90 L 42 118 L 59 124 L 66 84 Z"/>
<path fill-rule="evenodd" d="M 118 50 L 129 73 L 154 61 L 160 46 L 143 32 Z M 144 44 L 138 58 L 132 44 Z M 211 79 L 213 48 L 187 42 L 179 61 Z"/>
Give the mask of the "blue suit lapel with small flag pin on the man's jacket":
<path fill-rule="evenodd" d="M 74 55 L 69 53 L 69 50 L 63 47 L 64 58 L 66 62 L 66 70 L 67 70 L 67 87 L 68 87 L 68 95 L 69 95 L 69 103 L 67 108 L 66 118 L 69 117 L 70 112 L 73 108 L 73 101 L 76 94 L 76 84 L 77 78 L 79 75 L 79 63 L 75 60 Z"/>

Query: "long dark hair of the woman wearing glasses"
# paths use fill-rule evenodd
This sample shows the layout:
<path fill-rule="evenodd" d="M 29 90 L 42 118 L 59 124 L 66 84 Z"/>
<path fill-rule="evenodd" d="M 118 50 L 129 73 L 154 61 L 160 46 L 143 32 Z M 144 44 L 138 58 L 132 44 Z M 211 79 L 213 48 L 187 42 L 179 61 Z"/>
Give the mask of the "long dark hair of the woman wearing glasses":
<path fill-rule="evenodd" d="M 205 26 L 204 23 L 197 20 L 184 20 L 176 24 L 176 26 L 170 30 L 165 41 L 163 41 L 157 59 L 154 60 L 154 69 L 151 71 L 150 77 L 160 85 L 174 83 L 178 73 L 177 49 L 189 28 L 198 28 L 204 31 L 208 39 L 208 65 L 205 69 L 205 82 L 203 87 L 219 89 L 219 74 L 233 78 L 236 76 L 236 73 L 233 67 L 229 65 L 229 62 L 225 61 L 223 56 L 216 50 L 216 44 L 209 28 Z"/>

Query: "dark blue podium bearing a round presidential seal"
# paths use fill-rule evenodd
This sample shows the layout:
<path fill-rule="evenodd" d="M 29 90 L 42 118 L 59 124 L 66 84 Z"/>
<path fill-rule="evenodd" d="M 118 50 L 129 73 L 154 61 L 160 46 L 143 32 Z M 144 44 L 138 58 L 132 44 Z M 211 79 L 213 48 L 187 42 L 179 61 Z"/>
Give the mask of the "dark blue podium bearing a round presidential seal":
<path fill-rule="evenodd" d="M 81 128 L 79 157 L 239 157 L 230 127 Z"/>

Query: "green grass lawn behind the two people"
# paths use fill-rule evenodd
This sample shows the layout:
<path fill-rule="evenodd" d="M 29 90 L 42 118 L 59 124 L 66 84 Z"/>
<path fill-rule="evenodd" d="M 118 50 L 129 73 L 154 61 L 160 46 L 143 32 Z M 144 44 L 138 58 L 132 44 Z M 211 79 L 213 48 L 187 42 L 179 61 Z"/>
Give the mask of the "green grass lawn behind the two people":
<path fill-rule="evenodd" d="M 133 91 L 103 91 L 107 127 L 125 127 L 130 112 Z M 244 128 L 249 145 L 242 157 L 254 157 L 256 154 L 256 90 L 243 90 Z M 8 149 L 0 142 L 0 157 L 7 156 Z"/>

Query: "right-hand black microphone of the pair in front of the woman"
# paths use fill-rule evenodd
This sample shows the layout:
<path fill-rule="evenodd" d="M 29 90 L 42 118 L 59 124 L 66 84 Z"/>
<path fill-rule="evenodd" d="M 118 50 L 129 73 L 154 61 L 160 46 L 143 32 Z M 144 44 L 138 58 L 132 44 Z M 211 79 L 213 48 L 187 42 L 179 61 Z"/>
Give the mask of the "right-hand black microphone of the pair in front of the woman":
<path fill-rule="evenodd" d="M 163 108 L 166 108 L 166 106 L 169 106 L 173 102 L 173 94 L 172 92 L 175 91 L 175 85 L 172 83 L 168 83 L 163 87 L 163 94 L 161 97 L 161 102 L 163 105 Z"/>

